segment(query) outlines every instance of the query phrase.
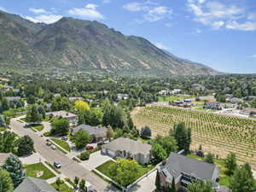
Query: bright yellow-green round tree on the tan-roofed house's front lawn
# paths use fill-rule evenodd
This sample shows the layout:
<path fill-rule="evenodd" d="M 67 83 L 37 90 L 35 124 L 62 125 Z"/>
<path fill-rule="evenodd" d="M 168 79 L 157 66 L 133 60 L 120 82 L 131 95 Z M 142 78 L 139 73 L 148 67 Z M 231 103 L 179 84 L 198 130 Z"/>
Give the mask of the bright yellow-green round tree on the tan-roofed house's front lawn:
<path fill-rule="evenodd" d="M 126 187 L 136 181 L 139 165 L 136 160 L 119 159 L 116 163 L 111 164 L 108 170 L 111 170 L 109 174 L 115 181 Z"/>

